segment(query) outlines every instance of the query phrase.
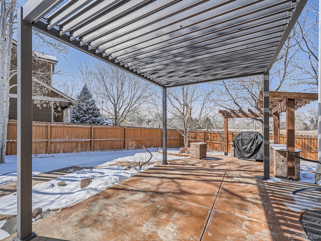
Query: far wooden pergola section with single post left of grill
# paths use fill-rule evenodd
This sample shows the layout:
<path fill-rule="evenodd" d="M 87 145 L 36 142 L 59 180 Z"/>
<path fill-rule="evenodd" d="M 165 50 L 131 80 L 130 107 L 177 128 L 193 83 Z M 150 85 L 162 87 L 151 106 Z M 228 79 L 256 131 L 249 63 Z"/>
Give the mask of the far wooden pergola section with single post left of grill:
<path fill-rule="evenodd" d="M 224 154 L 228 154 L 228 119 L 229 118 L 263 118 L 263 111 L 261 110 L 258 113 L 255 113 L 253 110 L 248 109 L 248 113 L 243 111 L 242 109 L 238 109 L 238 111 L 234 109 L 230 109 L 229 111 L 219 109 L 219 113 L 222 114 L 224 118 Z"/>

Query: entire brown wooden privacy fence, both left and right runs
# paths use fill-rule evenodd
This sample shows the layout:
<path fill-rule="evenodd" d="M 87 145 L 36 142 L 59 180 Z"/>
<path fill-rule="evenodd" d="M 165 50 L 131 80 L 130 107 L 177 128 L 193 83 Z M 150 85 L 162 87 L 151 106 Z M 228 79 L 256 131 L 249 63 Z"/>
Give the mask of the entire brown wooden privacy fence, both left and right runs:
<path fill-rule="evenodd" d="M 193 132 L 190 142 L 206 142 L 209 150 L 224 152 L 224 132 Z M 239 132 L 229 132 L 228 142 Z M 270 135 L 273 140 L 273 135 Z M 280 144 L 286 136 L 280 135 Z M 177 130 L 167 130 L 168 147 L 181 147 L 183 139 Z M 162 147 L 162 129 L 77 125 L 33 122 L 33 154 L 138 149 L 145 146 Z M 317 137 L 296 135 L 295 148 L 301 156 L 317 160 Z M 228 146 L 230 153 L 231 145 Z M 7 155 L 17 154 L 17 122 L 9 121 Z"/>

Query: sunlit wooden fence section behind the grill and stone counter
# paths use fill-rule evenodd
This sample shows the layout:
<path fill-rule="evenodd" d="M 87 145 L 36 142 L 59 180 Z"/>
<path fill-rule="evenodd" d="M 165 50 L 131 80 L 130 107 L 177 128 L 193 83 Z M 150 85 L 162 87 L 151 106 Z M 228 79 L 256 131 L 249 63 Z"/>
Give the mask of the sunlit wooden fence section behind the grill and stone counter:
<path fill-rule="evenodd" d="M 240 132 L 228 133 L 228 152 L 231 152 L 232 139 Z M 190 142 L 206 142 L 209 150 L 224 152 L 224 131 L 216 132 L 193 132 Z M 273 140 L 273 134 L 270 134 L 270 140 Z M 286 135 L 280 135 L 280 144 L 286 144 Z M 295 148 L 300 149 L 303 153 L 301 157 L 317 160 L 317 137 L 311 135 L 295 135 Z"/>

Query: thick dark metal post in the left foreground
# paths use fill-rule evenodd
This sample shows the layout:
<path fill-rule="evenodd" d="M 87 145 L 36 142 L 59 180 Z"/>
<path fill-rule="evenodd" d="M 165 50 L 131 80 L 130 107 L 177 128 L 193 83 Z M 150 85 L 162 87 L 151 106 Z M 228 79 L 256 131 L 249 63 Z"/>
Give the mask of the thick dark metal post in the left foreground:
<path fill-rule="evenodd" d="M 32 24 L 18 11 L 18 136 L 17 136 L 17 236 L 30 240 L 32 232 Z"/>

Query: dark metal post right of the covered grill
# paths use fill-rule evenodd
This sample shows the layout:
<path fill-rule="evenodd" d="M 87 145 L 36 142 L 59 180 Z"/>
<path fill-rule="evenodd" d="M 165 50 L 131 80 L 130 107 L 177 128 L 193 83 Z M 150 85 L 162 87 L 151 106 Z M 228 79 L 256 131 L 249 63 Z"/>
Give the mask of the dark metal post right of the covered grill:
<path fill-rule="evenodd" d="M 264 163 L 264 176 L 263 179 L 267 180 L 270 179 L 270 132 L 269 132 L 269 126 L 270 126 L 270 108 L 269 108 L 269 73 L 264 73 L 264 79 L 263 79 L 263 163 Z"/>

